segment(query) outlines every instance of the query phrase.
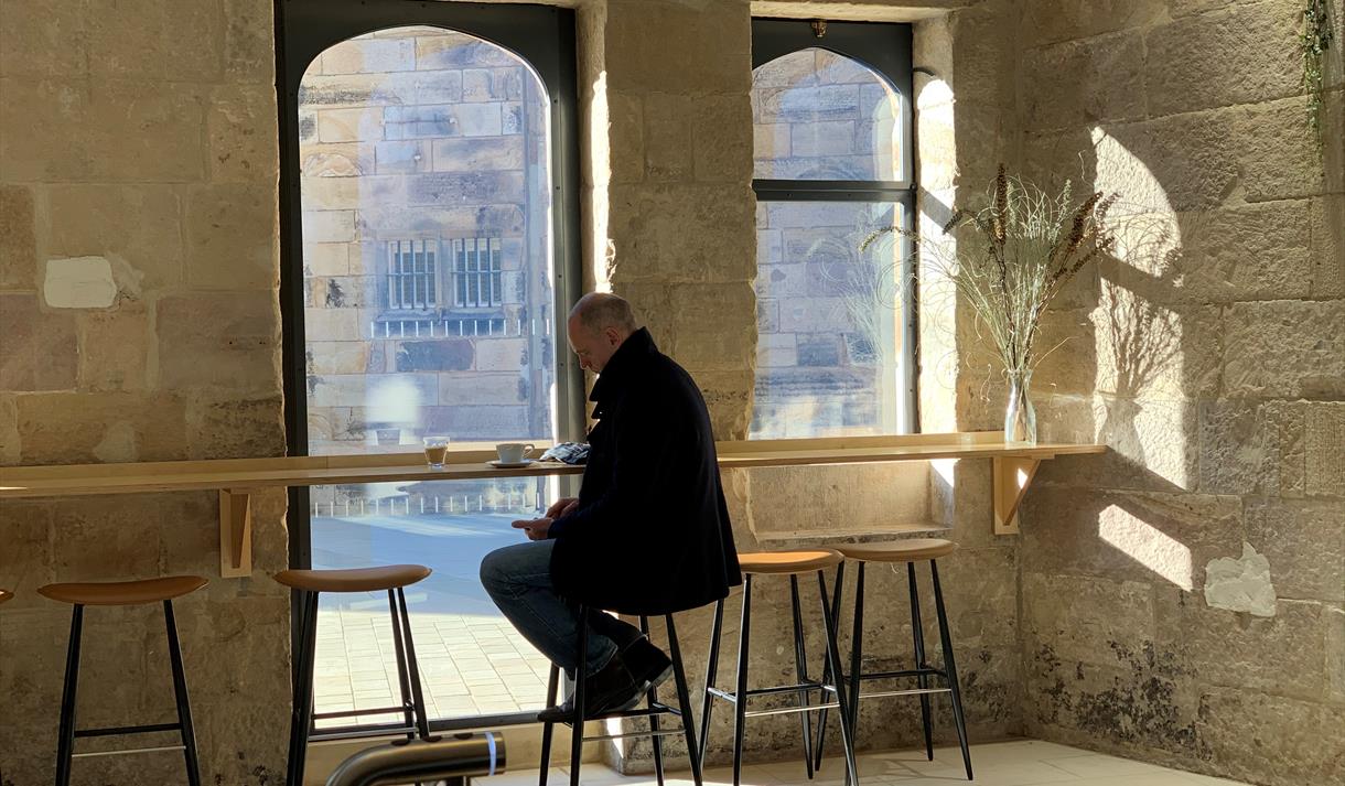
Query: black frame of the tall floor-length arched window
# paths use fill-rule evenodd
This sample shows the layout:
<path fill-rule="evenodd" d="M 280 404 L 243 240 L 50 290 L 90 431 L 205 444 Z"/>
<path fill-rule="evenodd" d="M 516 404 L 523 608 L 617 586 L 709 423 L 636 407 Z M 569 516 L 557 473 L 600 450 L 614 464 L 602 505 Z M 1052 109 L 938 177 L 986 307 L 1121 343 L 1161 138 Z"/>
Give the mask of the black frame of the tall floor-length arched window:
<path fill-rule="evenodd" d="M 312 61 L 327 48 L 367 32 L 428 26 L 473 35 L 529 63 L 550 101 L 551 249 L 554 304 L 551 335 L 565 335 L 565 319 L 580 295 L 578 90 L 574 11 L 547 5 L 441 3 L 416 0 L 276 0 L 276 93 L 280 141 L 280 311 L 285 436 L 289 455 L 308 454 L 304 331 L 304 246 L 301 236 L 299 86 Z M 438 254 L 443 260 L 443 253 Z M 443 276 L 443 268 L 438 271 Z M 557 413 L 561 439 L 584 437 L 584 374 L 555 347 Z M 308 489 L 289 489 L 289 565 L 312 564 Z M 292 635 L 297 635 L 297 615 Z M 295 638 L 293 641 L 297 641 Z M 534 712 L 433 721 L 436 731 L 531 723 Z"/>

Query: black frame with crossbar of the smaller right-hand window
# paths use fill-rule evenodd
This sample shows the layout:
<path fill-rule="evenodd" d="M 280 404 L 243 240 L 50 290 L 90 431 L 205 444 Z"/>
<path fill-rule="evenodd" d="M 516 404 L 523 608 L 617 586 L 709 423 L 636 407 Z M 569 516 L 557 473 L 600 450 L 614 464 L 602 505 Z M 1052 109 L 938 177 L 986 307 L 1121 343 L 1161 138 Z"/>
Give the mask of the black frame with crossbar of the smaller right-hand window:
<path fill-rule="evenodd" d="M 868 66 L 886 79 L 902 101 L 900 117 L 901 162 L 900 180 L 784 180 L 752 179 L 757 202 L 896 202 L 913 230 L 916 221 L 916 159 L 915 159 L 915 83 L 912 66 L 912 27 L 888 22 L 826 22 L 823 34 L 814 31 L 815 23 L 804 19 L 752 19 L 752 70 L 808 48 L 827 50 Z M 898 428 L 902 433 L 920 432 L 920 330 L 917 314 L 919 280 L 913 248 L 907 237 L 901 244 L 901 393 L 907 397 L 905 417 Z"/>

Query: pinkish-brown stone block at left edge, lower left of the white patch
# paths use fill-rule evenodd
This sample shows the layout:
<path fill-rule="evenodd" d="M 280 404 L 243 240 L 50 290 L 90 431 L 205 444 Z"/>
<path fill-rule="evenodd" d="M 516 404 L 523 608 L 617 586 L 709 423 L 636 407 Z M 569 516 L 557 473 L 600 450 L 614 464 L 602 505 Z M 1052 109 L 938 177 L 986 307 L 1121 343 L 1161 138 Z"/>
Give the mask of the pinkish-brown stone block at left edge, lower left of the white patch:
<path fill-rule="evenodd" d="M 0 295 L 0 390 L 70 390 L 79 342 L 70 312 L 42 311 L 31 293 Z"/>

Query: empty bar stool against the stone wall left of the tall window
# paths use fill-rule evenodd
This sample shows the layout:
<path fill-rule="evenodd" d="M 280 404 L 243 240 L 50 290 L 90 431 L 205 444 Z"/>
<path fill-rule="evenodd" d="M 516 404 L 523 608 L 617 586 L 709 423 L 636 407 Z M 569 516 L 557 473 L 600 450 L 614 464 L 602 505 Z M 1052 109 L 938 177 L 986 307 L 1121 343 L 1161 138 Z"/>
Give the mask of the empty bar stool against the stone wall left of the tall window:
<path fill-rule="evenodd" d="M 51 600 L 69 603 L 74 607 L 70 618 L 70 645 L 66 654 L 66 681 L 61 694 L 61 732 L 56 747 L 56 786 L 69 786 L 70 764 L 82 756 L 104 754 L 77 754 L 75 739 L 90 736 L 120 736 L 156 731 L 178 731 L 182 744 L 172 747 L 148 747 L 117 752 L 148 752 L 182 748 L 187 764 L 187 783 L 200 786 L 200 763 L 196 759 L 196 736 L 191 725 L 191 705 L 187 701 L 187 678 L 182 669 L 182 646 L 178 642 L 178 624 L 172 615 L 172 599 L 195 592 L 206 585 L 200 576 L 165 576 L 143 581 L 98 581 L 85 584 L 47 584 L 38 594 Z M 79 688 L 79 641 L 83 631 L 85 606 L 140 606 L 145 603 L 164 604 L 164 624 L 168 629 L 168 662 L 172 666 L 174 700 L 178 704 L 178 723 L 157 723 L 147 725 L 122 725 L 110 728 L 75 729 L 75 693 Z"/>

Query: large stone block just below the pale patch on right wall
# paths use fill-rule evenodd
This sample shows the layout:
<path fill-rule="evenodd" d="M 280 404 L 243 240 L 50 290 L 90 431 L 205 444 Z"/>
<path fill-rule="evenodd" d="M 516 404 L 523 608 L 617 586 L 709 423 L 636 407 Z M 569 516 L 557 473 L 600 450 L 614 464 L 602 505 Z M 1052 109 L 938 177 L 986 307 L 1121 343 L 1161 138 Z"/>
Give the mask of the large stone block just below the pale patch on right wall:
<path fill-rule="evenodd" d="M 1200 594 L 1165 588 L 1157 596 L 1157 641 L 1200 682 L 1303 700 L 1321 696 L 1326 680 L 1322 604 L 1279 598 L 1275 616 L 1260 618 L 1210 608 Z"/>

